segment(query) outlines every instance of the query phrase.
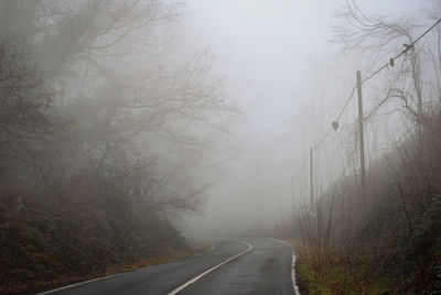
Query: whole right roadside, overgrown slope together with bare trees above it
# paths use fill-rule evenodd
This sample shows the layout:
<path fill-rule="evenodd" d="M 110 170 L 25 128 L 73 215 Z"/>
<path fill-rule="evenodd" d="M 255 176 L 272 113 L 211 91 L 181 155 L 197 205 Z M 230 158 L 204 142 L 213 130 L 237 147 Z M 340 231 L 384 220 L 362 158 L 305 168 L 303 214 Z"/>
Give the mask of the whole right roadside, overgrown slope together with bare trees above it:
<path fill-rule="evenodd" d="M 370 18 L 352 3 L 336 14 L 334 41 L 347 52 L 387 63 L 406 50 L 402 44 L 412 44 L 439 20 L 439 13 L 433 15 L 421 26 L 409 20 Z M 440 292 L 440 53 L 438 25 L 394 61 L 380 78 L 363 84 L 364 89 L 378 89 L 378 105 L 365 112 L 364 123 L 395 113 L 400 119 L 398 130 L 402 130 L 379 127 L 394 140 L 381 153 L 367 156 L 365 196 L 354 122 L 349 127 L 354 140 L 347 150 L 355 153 L 342 160 L 347 165 L 340 178 L 319 192 L 312 204 L 309 194 L 303 194 L 294 217 L 279 223 L 279 236 L 294 238 L 298 278 L 309 294 Z M 369 72 L 364 73 L 368 77 Z M 375 113 L 385 103 L 391 103 L 388 110 Z"/>

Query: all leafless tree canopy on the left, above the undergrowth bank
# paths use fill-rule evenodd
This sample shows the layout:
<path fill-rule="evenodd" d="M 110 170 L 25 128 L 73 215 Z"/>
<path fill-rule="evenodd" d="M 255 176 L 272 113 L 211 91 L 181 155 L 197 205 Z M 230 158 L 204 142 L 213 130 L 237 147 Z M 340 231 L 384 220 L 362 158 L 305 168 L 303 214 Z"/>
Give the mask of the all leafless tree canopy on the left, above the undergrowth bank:
<path fill-rule="evenodd" d="M 24 161 L 60 196 L 94 175 L 148 210 L 195 210 L 208 184 L 192 171 L 235 108 L 209 56 L 181 52 L 182 3 L 2 1 L 1 11 L 2 176 Z"/>

